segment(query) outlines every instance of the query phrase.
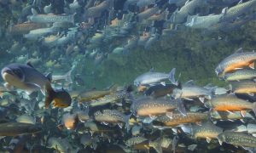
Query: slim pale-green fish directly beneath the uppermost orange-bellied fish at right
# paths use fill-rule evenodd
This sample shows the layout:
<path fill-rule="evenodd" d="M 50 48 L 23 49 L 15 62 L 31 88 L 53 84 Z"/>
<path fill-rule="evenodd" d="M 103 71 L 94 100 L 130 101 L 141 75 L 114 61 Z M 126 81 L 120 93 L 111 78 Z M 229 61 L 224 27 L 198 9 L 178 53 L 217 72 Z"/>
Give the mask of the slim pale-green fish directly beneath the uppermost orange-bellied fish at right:
<path fill-rule="evenodd" d="M 253 69 L 241 69 L 228 73 L 224 76 L 224 80 L 228 82 L 242 81 L 242 80 L 253 80 L 256 78 L 256 71 Z"/>

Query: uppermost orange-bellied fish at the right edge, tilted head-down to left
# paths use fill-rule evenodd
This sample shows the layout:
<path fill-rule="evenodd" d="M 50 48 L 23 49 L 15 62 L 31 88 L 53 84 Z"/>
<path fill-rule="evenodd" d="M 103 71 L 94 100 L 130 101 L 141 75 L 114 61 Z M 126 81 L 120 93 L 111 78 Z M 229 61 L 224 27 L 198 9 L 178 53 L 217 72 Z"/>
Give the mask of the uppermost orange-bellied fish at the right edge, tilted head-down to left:
<path fill-rule="evenodd" d="M 224 77 L 226 73 L 242 69 L 244 67 L 254 68 L 254 60 L 256 54 L 254 52 L 243 52 L 242 48 L 238 48 L 234 54 L 223 59 L 215 68 L 218 77 Z"/>

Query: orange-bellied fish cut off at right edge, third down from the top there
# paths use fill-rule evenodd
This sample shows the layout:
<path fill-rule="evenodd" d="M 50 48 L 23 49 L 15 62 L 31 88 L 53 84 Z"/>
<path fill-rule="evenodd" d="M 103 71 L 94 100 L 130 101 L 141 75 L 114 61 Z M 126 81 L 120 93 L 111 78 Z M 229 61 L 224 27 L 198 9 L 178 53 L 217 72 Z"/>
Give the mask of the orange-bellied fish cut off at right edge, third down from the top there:
<path fill-rule="evenodd" d="M 231 82 L 230 90 L 236 94 L 253 95 L 256 93 L 256 83 L 250 80 Z"/>

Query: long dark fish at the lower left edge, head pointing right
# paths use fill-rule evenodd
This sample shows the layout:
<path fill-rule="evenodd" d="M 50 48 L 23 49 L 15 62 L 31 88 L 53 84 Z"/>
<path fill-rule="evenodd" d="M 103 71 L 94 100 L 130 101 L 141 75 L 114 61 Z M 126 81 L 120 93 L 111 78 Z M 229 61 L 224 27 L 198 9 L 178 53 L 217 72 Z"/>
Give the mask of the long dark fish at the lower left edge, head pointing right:
<path fill-rule="evenodd" d="M 6 122 L 0 124 L 0 136 L 17 136 L 26 133 L 39 133 L 42 127 L 24 122 Z"/>

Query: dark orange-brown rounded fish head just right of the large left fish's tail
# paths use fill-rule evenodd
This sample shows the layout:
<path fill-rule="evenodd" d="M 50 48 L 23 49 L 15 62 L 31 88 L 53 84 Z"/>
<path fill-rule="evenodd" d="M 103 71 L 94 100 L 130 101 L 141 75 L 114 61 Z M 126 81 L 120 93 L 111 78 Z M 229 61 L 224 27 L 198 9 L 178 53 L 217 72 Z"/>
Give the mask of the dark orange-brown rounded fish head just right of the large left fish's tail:
<path fill-rule="evenodd" d="M 66 108 L 71 105 L 72 99 L 67 91 L 61 89 L 55 91 L 55 98 L 53 99 L 53 105 L 55 107 Z"/>

